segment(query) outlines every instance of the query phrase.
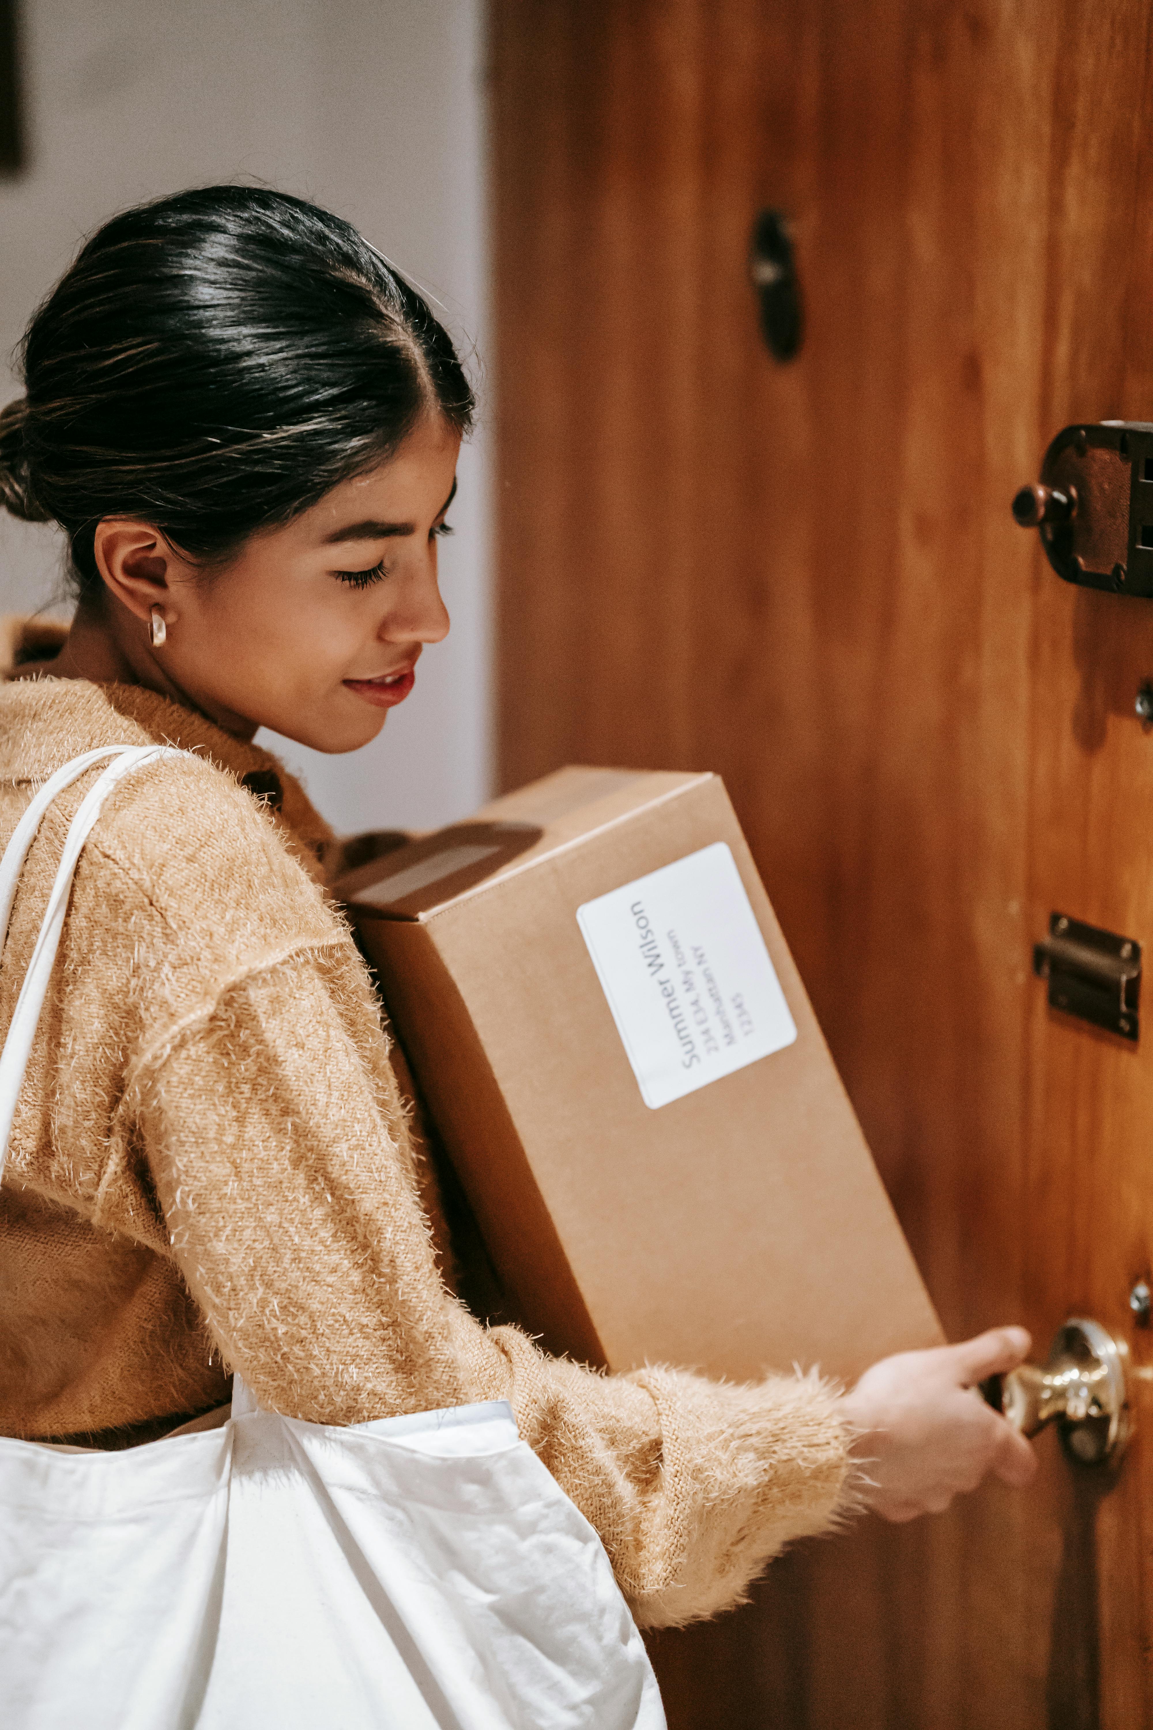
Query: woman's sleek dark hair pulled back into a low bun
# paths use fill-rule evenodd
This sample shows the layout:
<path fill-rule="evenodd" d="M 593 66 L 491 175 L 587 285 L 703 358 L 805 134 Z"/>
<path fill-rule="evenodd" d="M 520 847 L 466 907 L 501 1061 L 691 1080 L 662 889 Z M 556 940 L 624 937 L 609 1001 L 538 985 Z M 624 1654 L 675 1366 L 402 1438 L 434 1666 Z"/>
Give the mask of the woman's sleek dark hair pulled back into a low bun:
<path fill-rule="evenodd" d="M 258 187 L 202 187 L 104 225 L 21 344 L 0 503 L 59 522 L 80 592 L 107 516 L 225 559 L 474 398 L 425 301 L 349 223 Z"/>

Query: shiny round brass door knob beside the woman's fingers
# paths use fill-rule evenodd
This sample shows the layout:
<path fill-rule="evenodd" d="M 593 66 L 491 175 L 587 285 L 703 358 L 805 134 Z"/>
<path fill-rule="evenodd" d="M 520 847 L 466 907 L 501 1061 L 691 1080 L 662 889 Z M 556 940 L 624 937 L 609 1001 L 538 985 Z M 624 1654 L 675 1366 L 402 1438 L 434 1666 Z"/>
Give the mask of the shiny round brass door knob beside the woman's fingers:
<path fill-rule="evenodd" d="M 1061 1446 L 1082 1465 L 1117 1460 L 1129 1439 L 1127 1346 L 1099 1322 L 1073 1317 L 1058 1329 L 1044 1368 L 1022 1363 L 980 1391 L 1022 1436 L 1056 1424 Z"/>

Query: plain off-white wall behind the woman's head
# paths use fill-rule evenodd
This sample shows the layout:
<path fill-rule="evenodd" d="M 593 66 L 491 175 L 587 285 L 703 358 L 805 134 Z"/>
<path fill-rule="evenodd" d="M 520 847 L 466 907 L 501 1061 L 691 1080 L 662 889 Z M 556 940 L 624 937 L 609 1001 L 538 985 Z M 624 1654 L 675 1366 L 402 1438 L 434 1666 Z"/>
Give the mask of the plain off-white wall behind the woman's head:
<path fill-rule="evenodd" d="M 481 0 L 24 0 L 22 19 L 29 168 L 0 180 L 0 355 L 112 211 L 256 178 L 347 216 L 436 296 L 484 389 Z M 263 740 L 341 830 L 432 827 L 487 796 L 484 427 L 451 521 L 453 631 L 384 735 L 346 758 Z M 52 529 L 0 512 L 0 611 L 59 597 L 59 566 Z"/>

